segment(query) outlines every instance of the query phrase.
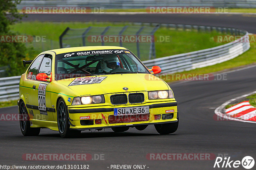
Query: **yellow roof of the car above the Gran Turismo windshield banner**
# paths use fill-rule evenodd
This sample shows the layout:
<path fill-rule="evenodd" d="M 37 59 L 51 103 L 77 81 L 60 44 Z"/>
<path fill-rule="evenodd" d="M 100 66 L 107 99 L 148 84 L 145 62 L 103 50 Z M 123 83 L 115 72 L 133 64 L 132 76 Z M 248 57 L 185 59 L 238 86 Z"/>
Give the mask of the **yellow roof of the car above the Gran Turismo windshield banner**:
<path fill-rule="evenodd" d="M 69 53 L 69 52 L 75 52 L 75 51 L 112 50 L 112 49 L 127 50 L 126 48 L 120 47 L 120 46 L 80 46 L 80 47 L 59 48 L 59 49 L 53 49 L 48 51 L 53 51 L 56 54 L 61 54 L 61 53 Z"/>

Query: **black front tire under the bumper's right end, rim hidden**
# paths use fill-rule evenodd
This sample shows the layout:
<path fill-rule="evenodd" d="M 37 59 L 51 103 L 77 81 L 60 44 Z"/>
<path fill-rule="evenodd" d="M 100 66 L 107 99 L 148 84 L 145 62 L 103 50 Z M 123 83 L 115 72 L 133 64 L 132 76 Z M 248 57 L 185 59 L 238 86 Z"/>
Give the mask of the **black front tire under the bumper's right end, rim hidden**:
<path fill-rule="evenodd" d="M 167 135 L 177 131 L 179 126 L 179 118 L 177 122 L 174 123 L 164 123 L 164 124 L 154 124 L 156 131 L 161 135 Z"/>

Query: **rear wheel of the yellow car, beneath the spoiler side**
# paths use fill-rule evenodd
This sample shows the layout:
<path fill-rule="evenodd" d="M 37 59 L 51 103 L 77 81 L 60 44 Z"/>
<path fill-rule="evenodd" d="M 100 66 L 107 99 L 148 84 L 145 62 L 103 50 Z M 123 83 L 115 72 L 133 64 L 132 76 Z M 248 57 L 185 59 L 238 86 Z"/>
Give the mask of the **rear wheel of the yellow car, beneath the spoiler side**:
<path fill-rule="evenodd" d="M 28 116 L 28 110 L 23 101 L 19 105 L 20 130 L 24 136 L 37 136 L 40 133 L 40 128 L 31 128 Z"/>

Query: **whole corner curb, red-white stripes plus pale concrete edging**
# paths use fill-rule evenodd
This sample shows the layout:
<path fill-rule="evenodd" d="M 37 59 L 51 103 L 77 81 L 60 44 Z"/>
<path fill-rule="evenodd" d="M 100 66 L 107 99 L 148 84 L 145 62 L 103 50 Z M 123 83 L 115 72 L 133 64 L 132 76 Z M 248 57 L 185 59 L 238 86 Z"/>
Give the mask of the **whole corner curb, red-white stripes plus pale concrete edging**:
<path fill-rule="evenodd" d="M 247 123 L 256 123 L 256 108 L 251 106 L 249 101 L 244 101 L 244 102 L 238 103 L 238 104 L 226 109 L 225 114 L 222 113 L 222 110 L 231 102 L 233 102 L 235 100 L 242 99 L 246 96 L 250 96 L 255 93 L 256 93 L 256 91 L 253 91 L 252 93 L 238 96 L 234 99 L 230 99 L 227 102 L 220 105 L 219 107 L 217 107 L 214 110 L 214 112 L 217 116 L 226 118 L 229 120 L 235 120 L 235 121 L 247 122 Z"/>

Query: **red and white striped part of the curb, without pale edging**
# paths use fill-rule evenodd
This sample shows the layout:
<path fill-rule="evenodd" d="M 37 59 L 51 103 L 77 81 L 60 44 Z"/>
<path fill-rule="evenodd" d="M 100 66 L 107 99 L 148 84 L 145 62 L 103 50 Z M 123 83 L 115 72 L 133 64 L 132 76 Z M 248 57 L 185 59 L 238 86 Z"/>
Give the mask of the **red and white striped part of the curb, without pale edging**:
<path fill-rule="evenodd" d="M 237 119 L 256 121 L 256 108 L 249 101 L 238 103 L 225 110 L 226 114 Z"/>

